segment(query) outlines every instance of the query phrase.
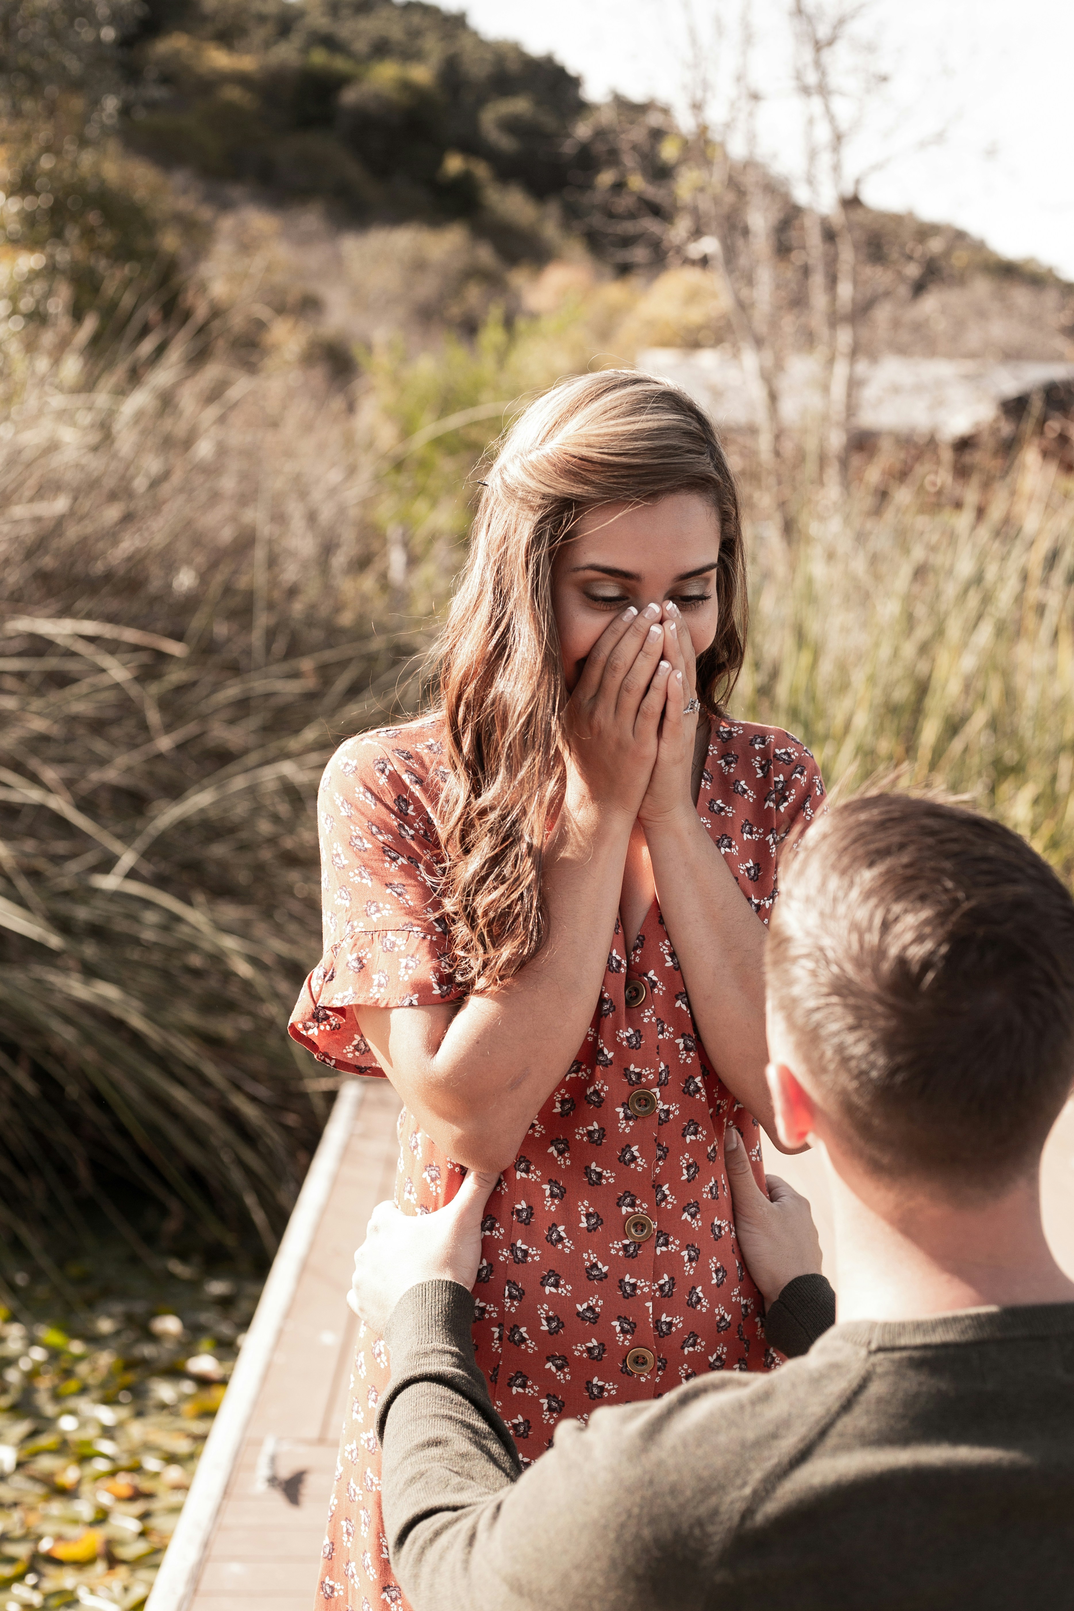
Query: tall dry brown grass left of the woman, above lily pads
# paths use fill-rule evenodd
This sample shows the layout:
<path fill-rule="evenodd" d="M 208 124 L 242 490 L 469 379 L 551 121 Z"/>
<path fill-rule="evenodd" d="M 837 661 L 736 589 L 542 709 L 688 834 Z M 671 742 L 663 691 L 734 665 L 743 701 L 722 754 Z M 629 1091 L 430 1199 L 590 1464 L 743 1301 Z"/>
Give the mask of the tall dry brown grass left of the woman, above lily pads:
<path fill-rule="evenodd" d="M 130 383 L 63 337 L 0 443 L 0 1274 L 87 1200 L 126 1224 L 124 1182 L 166 1240 L 272 1249 L 327 1100 L 282 1033 L 312 797 L 422 646 L 369 623 L 370 453 L 322 374 L 187 330 Z"/>

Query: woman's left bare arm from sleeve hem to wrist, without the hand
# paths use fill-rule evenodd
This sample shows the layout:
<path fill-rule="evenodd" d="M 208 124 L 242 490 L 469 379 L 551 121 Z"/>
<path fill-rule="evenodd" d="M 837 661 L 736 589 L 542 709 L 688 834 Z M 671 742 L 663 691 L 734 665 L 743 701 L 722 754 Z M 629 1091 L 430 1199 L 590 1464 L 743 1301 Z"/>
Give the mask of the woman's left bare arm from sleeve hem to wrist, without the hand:
<path fill-rule="evenodd" d="M 440 1029 L 393 1012 L 386 1047 L 359 1020 L 422 1129 L 467 1168 L 504 1170 L 581 1046 L 618 912 L 631 822 L 591 802 L 560 814 L 544 863 L 547 938 L 507 984 Z M 385 1015 L 388 1017 L 388 1015 Z M 386 1052 L 386 1057 L 385 1057 Z"/>

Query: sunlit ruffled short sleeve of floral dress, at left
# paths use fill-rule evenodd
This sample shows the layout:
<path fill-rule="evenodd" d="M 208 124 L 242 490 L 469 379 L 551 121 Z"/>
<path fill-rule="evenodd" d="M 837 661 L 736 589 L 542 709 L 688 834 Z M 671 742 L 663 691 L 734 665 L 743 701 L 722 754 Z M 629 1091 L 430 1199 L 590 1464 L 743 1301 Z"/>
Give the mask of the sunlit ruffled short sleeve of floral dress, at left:
<path fill-rule="evenodd" d="M 462 996 L 436 896 L 428 757 L 406 736 L 401 728 L 348 739 L 317 791 L 324 950 L 288 1033 L 345 1073 L 382 1073 L 356 1007 L 432 1007 Z"/>

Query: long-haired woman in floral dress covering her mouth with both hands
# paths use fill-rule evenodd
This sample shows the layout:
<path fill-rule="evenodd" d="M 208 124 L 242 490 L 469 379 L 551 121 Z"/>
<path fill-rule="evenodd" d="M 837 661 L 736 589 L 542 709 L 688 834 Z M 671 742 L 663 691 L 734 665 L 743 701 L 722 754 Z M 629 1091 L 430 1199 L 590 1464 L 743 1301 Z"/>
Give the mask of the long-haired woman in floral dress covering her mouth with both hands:
<path fill-rule="evenodd" d="M 746 564 L 704 412 L 633 371 L 507 435 L 440 665 L 441 709 L 348 739 L 320 789 L 325 954 L 291 1034 L 403 1097 L 399 1203 L 501 1173 L 477 1358 L 518 1450 L 697 1371 L 768 1369 L 736 1257 L 728 1120 L 760 1173 L 776 847 L 823 785 L 731 722 Z M 362 1336 L 322 1595 L 403 1605 Z"/>

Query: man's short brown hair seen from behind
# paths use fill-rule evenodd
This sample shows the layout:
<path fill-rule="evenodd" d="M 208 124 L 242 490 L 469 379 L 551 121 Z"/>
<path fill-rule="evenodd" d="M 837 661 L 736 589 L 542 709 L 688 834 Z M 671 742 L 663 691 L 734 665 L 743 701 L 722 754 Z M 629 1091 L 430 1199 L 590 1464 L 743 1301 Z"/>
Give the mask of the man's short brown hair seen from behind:
<path fill-rule="evenodd" d="M 1010 828 L 849 801 L 783 868 L 770 1000 L 866 1166 L 1008 1184 L 1074 1079 L 1074 899 Z"/>

